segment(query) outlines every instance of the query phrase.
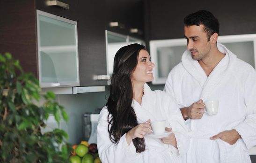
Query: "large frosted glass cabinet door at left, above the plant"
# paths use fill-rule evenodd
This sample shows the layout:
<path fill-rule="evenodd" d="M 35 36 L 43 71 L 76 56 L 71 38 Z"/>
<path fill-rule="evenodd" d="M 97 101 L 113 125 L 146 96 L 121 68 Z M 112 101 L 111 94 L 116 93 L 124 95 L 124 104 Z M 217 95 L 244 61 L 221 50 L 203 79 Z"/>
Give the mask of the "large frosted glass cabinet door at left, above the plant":
<path fill-rule="evenodd" d="M 37 40 L 40 86 L 79 86 L 76 21 L 37 10 Z"/>

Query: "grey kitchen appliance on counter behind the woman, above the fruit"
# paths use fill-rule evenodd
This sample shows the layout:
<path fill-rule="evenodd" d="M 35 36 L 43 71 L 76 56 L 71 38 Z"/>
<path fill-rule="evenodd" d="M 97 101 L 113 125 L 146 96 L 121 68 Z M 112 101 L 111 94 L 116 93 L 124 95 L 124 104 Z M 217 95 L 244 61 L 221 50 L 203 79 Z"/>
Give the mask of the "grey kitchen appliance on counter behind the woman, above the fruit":
<path fill-rule="evenodd" d="M 84 119 L 84 139 L 89 143 L 97 143 L 97 125 L 100 114 L 85 113 Z"/>

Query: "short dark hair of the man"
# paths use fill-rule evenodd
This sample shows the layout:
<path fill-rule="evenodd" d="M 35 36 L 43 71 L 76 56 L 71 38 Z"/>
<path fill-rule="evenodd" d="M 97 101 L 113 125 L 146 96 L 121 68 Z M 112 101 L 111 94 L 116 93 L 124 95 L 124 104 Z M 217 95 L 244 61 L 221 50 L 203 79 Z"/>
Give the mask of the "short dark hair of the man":
<path fill-rule="evenodd" d="M 207 34 L 208 41 L 212 34 L 219 34 L 219 21 L 213 14 L 206 10 L 199 10 L 195 13 L 189 14 L 184 18 L 185 26 L 199 26 L 204 25 L 204 31 Z"/>

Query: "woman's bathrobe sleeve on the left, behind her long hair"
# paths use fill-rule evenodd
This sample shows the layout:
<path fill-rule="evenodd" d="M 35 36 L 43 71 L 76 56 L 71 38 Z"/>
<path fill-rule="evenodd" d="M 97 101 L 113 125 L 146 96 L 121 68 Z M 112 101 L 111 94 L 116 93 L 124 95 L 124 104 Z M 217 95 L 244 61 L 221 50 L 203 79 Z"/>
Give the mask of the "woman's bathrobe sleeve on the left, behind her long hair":
<path fill-rule="evenodd" d="M 98 153 L 102 163 L 135 163 L 140 159 L 140 154 L 136 153 L 136 149 L 131 142 L 130 145 L 126 142 L 126 134 L 124 134 L 119 143 L 115 144 L 110 141 L 108 132 L 109 112 L 104 107 L 100 113 L 100 118 L 97 126 L 97 146 Z"/>

